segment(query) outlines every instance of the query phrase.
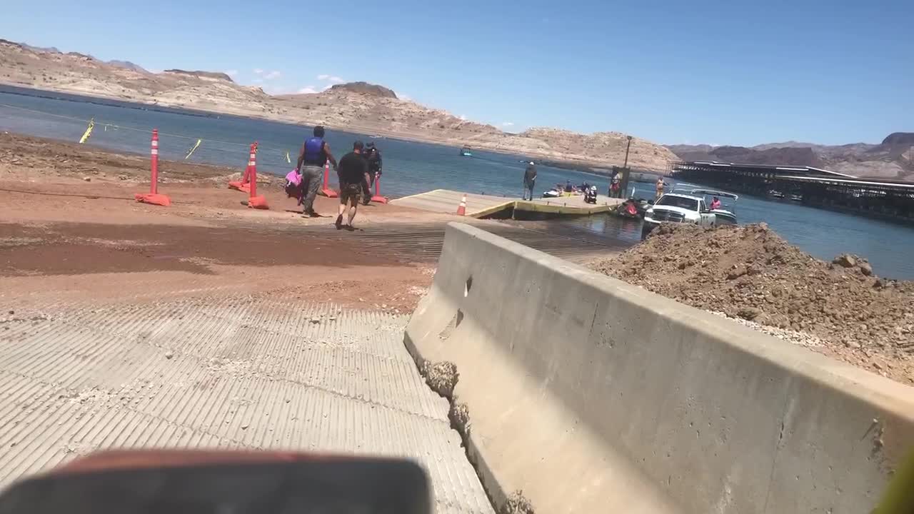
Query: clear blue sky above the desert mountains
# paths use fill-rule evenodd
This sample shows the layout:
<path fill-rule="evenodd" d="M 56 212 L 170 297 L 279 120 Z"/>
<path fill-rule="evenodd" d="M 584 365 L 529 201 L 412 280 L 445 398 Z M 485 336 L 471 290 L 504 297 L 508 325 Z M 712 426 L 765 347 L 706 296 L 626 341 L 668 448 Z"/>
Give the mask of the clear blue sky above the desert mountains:
<path fill-rule="evenodd" d="M 233 71 L 268 92 L 367 80 L 513 132 L 757 145 L 914 131 L 910 0 L 133 4 L 14 1 L 0 37 Z"/>

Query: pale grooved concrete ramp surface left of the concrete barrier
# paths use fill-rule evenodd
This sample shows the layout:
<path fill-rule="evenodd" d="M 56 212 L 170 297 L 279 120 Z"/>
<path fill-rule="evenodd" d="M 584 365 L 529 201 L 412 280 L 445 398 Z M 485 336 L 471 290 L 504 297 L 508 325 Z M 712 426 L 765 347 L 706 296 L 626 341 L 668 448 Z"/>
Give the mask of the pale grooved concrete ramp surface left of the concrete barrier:
<path fill-rule="evenodd" d="M 340 451 L 415 458 L 439 512 L 492 512 L 406 323 L 276 294 L 3 313 L 0 485 L 100 448 Z"/>

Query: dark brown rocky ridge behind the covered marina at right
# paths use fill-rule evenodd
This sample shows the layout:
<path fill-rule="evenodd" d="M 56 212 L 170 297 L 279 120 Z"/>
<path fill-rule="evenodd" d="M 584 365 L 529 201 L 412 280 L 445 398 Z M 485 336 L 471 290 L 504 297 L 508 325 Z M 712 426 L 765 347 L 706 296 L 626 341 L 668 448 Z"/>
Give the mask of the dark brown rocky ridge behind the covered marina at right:
<path fill-rule="evenodd" d="M 745 146 L 667 145 L 684 161 L 813 166 L 856 177 L 914 181 L 914 133 L 889 134 L 879 145 L 813 145 L 788 141 Z"/>

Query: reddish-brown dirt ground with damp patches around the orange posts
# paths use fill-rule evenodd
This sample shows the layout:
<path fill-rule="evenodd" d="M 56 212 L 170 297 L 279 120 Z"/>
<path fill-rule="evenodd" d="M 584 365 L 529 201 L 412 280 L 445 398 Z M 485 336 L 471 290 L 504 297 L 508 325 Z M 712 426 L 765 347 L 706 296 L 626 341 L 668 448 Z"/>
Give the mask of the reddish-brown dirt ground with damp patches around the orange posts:
<path fill-rule="evenodd" d="M 0 307 L 98 298 L 292 288 L 303 301 L 409 312 L 430 284 L 428 266 L 362 251 L 356 244 L 290 233 L 329 225 L 303 219 L 279 179 L 260 184 L 271 206 L 248 209 L 225 187 L 236 170 L 162 163 L 170 208 L 139 204 L 148 163 L 90 146 L 0 134 Z M 89 178 L 89 180 L 84 180 Z M 269 179 L 270 177 L 266 177 Z M 361 207 L 356 226 L 429 220 L 395 206 Z"/>

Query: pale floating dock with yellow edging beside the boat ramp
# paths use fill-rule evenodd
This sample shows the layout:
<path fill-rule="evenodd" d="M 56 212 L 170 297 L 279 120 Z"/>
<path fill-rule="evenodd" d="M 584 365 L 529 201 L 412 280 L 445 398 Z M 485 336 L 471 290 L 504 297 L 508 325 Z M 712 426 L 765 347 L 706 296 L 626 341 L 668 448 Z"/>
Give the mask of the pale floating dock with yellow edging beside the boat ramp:
<path fill-rule="evenodd" d="M 466 216 L 471 218 L 588 216 L 609 212 L 622 203 L 620 198 L 597 197 L 596 204 L 584 203 L 583 196 L 561 198 L 496 197 L 494 195 L 466 194 Z M 430 212 L 456 213 L 464 193 L 449 189 L 435 189 L 427 193 L 397 198 L 390 203 Z"/>

